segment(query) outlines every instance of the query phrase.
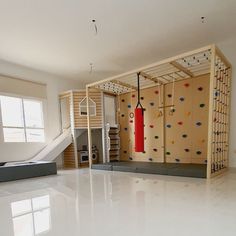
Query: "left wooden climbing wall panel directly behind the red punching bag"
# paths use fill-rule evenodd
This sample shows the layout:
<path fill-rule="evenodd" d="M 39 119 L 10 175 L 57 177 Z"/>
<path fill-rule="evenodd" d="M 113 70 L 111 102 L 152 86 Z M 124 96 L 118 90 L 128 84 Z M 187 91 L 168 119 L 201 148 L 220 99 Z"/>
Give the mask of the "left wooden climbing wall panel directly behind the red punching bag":
<path fill-rule="evenodd" d="M 137 103 L 137 92 L 122 94 L 118 97 L 121 160 L 163 162 L 163 117 L 158 116 L 158 106 L 163 105 L 161 90 L 159 86 L 141 90 L 141 103 L 145 109 L 145 151 L 143 153 L 134 152 L 133 115 Z"/>

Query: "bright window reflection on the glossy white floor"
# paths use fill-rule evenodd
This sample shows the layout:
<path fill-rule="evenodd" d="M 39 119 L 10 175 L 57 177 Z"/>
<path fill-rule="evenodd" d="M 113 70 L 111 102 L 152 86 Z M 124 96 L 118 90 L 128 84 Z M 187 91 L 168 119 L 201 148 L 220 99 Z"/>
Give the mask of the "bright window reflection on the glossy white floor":
<path fill-rule="evenodd" d="M 49 195 L 11 203 L 15 236 L 36 236 L 51 228 Z"/>

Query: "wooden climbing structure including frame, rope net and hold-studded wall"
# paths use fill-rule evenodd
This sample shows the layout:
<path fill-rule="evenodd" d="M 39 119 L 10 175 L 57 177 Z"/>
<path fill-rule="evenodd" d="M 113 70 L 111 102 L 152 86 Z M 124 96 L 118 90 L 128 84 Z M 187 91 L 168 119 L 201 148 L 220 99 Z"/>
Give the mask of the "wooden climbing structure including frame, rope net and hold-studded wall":
<path fill-rule="evenodd" d="M 135 152 L 137 75 L 143 152 Z M 227 169 L 231 64 L 215 45 L 88 84 L 87 99 L 92 89 L 116 96 L 119 160 L 203 165 L 208 178 Z M 89 105 L 87 114 L 91 153 Z"/>

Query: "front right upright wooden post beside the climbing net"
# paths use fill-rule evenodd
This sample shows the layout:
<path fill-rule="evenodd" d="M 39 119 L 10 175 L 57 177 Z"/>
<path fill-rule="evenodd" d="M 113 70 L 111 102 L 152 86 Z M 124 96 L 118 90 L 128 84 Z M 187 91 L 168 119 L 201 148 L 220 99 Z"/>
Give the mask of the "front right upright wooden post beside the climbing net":
<path fill-rule="evenodd" d="M 211 178 L 212 165 L 212 140 L 213 140 L 213 103 L 214 103 L 214 80 L 215 80 L 215 45 L 211 47 L 211 69 L 209 86 L 209 118 L 208 118 L 208 144 L 207 144 L 207 178 Z"/>

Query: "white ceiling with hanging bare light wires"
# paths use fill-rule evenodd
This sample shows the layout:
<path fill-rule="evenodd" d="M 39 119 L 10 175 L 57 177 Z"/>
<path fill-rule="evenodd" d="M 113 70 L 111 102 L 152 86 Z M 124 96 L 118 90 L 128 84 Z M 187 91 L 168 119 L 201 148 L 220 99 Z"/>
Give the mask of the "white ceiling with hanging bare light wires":
<path fill-rule="evenodd" d="M 235 23 L 235 0 L 0 0 L 0 59 L 92 82 L 233 37 Z"/>

